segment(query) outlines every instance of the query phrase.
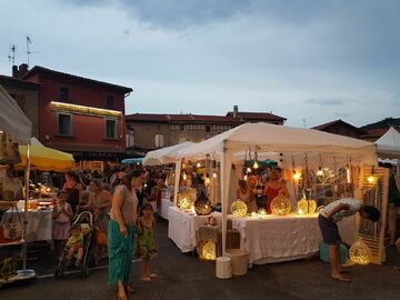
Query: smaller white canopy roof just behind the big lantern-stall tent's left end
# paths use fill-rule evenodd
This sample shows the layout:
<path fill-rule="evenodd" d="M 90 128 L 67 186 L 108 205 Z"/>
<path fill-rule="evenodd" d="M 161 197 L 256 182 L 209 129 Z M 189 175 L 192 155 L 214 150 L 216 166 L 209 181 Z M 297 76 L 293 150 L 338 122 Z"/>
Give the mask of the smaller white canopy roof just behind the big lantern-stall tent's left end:
<path fill-rule="evenodd" d="M 189 148 L 196 144 L 196 142 L 182 142 L 171 147 L 161 148 L 154 151 L 150 151 L 143 158 L 143 166 L 161 166 L 167 163 L 176 163 L 177 156 L 176 153 L 179 150 Z"/>

